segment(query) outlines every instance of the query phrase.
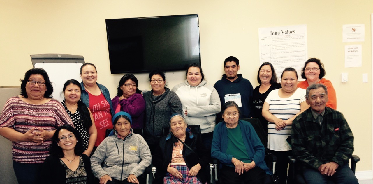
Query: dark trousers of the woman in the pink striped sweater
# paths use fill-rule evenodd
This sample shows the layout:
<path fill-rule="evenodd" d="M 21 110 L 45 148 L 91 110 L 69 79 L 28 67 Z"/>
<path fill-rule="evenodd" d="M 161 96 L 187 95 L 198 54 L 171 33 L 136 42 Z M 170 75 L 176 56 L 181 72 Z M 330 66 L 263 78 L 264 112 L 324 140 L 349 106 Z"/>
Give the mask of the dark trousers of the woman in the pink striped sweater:
<path fill-rule="evenodd" d="M 13 170 L 16 174 L 18 184 L 34 184 L 37 183 L 41 166 L 43 163 L 26 164 L 13 161 Z"/>

